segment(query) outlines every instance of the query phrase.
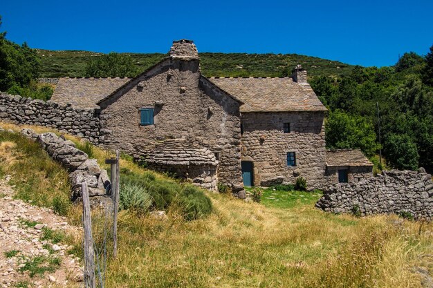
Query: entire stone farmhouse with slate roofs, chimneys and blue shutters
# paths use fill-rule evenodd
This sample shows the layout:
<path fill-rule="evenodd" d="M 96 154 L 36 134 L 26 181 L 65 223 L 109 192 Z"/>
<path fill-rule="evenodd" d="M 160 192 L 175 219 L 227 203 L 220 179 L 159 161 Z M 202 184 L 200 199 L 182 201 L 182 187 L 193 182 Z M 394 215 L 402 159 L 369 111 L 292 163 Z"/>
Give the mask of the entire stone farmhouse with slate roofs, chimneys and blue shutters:
<path fill-rule="evenodd" d="M 132 79 L 61 78 L 51 101 L 95 108 L 98 144 L 207 189 L 228 184 L 241 198 L 244 185 L 302 176 L 323 189 L 372 176 L 360 151 L 326 151 L 326 108 L 300 66 L 293 77 L 207 78 L 185 39 Z"/>

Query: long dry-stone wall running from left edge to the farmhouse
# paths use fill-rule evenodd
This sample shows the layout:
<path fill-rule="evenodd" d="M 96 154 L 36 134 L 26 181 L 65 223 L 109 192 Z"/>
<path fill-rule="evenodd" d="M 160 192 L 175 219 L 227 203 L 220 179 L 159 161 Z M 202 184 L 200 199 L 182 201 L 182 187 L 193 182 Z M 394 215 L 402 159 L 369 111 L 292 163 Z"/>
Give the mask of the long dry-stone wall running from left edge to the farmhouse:
<path fill-rule="evenodd" d="M 0 93 L 0 122 L 55 128 L 99 144 L 99 115 L 94 109 Z"/>

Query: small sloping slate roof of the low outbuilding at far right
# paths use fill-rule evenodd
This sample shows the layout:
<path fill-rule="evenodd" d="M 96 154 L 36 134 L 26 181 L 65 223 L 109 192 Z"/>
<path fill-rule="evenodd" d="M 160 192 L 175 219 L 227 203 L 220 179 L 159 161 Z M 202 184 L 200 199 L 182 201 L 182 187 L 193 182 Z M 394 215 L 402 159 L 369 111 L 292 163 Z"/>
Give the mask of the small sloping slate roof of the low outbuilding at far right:
<path fill-rule="evenodd" d="M 326 150 L 326 166 L 373 166 L 359 149 Z"/>

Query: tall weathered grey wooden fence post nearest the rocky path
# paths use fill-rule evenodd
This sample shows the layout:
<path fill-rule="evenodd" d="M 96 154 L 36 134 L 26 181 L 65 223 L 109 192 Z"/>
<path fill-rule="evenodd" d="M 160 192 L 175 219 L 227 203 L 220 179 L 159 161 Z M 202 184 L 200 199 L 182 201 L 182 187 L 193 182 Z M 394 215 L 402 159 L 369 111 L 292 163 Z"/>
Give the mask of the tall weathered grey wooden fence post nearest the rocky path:
<path fill-rule="evenodd" d="M 84 287 L 95 288 L 95 251 L 93 251 L 92 222 L 87 183 L 82 182 L 84 227 Z"/>

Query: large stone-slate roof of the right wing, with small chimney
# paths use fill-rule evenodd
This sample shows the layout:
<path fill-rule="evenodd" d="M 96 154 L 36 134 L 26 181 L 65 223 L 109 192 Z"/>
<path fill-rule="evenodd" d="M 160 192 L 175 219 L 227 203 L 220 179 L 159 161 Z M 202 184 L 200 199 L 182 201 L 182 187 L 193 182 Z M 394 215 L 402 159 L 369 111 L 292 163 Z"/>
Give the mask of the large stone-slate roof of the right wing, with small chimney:
<path fill-rule="evenodd" d="M 208 78 L 244 104 L 241 112 L 326 111 L 308 84 L 286 78 Z"/>

